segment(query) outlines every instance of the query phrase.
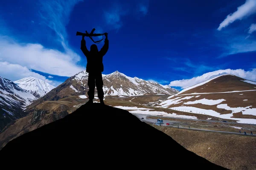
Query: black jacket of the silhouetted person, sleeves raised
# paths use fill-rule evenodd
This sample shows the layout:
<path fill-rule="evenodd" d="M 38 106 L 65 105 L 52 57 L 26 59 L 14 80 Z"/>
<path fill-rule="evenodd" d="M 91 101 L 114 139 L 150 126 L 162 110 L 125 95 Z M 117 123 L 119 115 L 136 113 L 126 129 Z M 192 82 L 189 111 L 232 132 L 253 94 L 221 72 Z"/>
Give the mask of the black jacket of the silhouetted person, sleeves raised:
<path fill-rule="evenodd" d="M 81 50 L 83 51 L 84 55 L 86 56 L 87 59 L 87 65 L 86 65 L 86 72 L 97 72 L 97 71 L 104 71 L 104 66 L 103 66 L 103 56 L 107 53 L 108 51 L 108 39 L 105 39 L 105 44 L 101 48 L 100 51 L 97 50 L 90 50 L 88 51 L 86 48 L 86 43 L 85 40 L 81 40 Z"/>

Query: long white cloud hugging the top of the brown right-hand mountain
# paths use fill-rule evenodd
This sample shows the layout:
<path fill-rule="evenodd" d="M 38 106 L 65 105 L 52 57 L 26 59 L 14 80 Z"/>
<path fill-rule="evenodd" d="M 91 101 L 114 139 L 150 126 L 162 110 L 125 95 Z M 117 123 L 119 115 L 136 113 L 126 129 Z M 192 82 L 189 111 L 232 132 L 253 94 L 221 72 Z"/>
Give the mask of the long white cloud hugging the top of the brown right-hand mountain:
<path fill-rule="evenodd" d="M 233 74 L 243 79 L 256 81 L 256 68 L 253 68 L 251 71 L 244 71 L 243 69 L 236 69 L 236 70 L 226 69 L 226 70 L 217 70 L 217 71 L 205 73 L 201 76 L 193 77 L 192 79 L 175 80 L 170 82 L 169 85 L 177 86 L 181 88 L 188 88 L 192 85 L 196 85 L 198 83 L 204 82 L 208 79 L 211 79 L 213 77 L 216 77 L 222 74 Z"/>

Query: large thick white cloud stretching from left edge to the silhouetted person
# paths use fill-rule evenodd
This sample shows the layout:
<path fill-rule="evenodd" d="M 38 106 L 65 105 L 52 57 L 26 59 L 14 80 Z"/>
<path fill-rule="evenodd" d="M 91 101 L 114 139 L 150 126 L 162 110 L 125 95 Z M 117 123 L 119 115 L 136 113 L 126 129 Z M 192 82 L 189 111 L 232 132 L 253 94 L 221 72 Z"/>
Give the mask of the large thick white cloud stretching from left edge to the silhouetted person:
<path fill-rule="evenodd" d="M 47 49 L 40 44 L 18 44 L 3 36 L 0 36 L 0 61 L 67 77 L 85 70 L 84 67 L 76 65 L 79 59 L 70 54 Z"/>

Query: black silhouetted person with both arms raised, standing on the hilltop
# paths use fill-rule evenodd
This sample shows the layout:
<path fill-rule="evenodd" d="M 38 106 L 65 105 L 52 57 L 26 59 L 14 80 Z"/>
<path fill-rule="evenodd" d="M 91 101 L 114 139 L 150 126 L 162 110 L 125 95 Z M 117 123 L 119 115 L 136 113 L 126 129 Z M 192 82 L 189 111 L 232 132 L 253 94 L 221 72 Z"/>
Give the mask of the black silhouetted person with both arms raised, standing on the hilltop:
<path fill-rule="evenodd" d="M 100 51 L 98 50 L 98 47 L 96 44 L 91 45 L 90 51 L 88 51 L 86 48 L 84 36 L 82 37 L 82 40 L 81 40 L 81 50 L 83 51 L 87 59 L 86 72 L 88 72 L 89 74 L 88 75 L 89 91 L 87 93 L 89 96 L 89 101 L 88 101 L 89 104 L 93 103 L 95 84 L 98 91 L 99 101 L 101 104 L 104 104 L 103 102 L 104 92 L 102 89 L 103 88 L 102 71 L 104 70 L 104 67 L 103 67 L 102 59 L 103 59 L 103 56 L 108 51 L 108 33 L 105 33 L 105 37 L 106 37 L 105 44 L 103 45 Z"/>

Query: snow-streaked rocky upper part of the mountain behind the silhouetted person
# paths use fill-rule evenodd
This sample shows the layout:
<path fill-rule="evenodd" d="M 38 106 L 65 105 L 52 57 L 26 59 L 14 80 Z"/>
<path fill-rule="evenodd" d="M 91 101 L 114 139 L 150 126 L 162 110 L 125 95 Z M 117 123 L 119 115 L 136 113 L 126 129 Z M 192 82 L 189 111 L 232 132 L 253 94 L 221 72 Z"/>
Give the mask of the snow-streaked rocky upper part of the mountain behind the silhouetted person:
<path fill-rule="evenodd" d="M 75 84 L 81 85 L 84 89 L 87 89 L 88 74 L 85 71 L 81 71 L 76 74 L 72 79 Z M 105 96 L 136 96 L 142 94 L 176 94 L 178 91 L 175 88 L 171 88 L 169 85 L 160 85 L 157 82 L 149 82 L 137 77 L 128 77 L 125 74 L 115 71 L 111 74 L 102 75 L 103 91 Z M 79 92 L 81 88 L 76 89 L 73 85 L 70 88 L 75 92 Z"/>

